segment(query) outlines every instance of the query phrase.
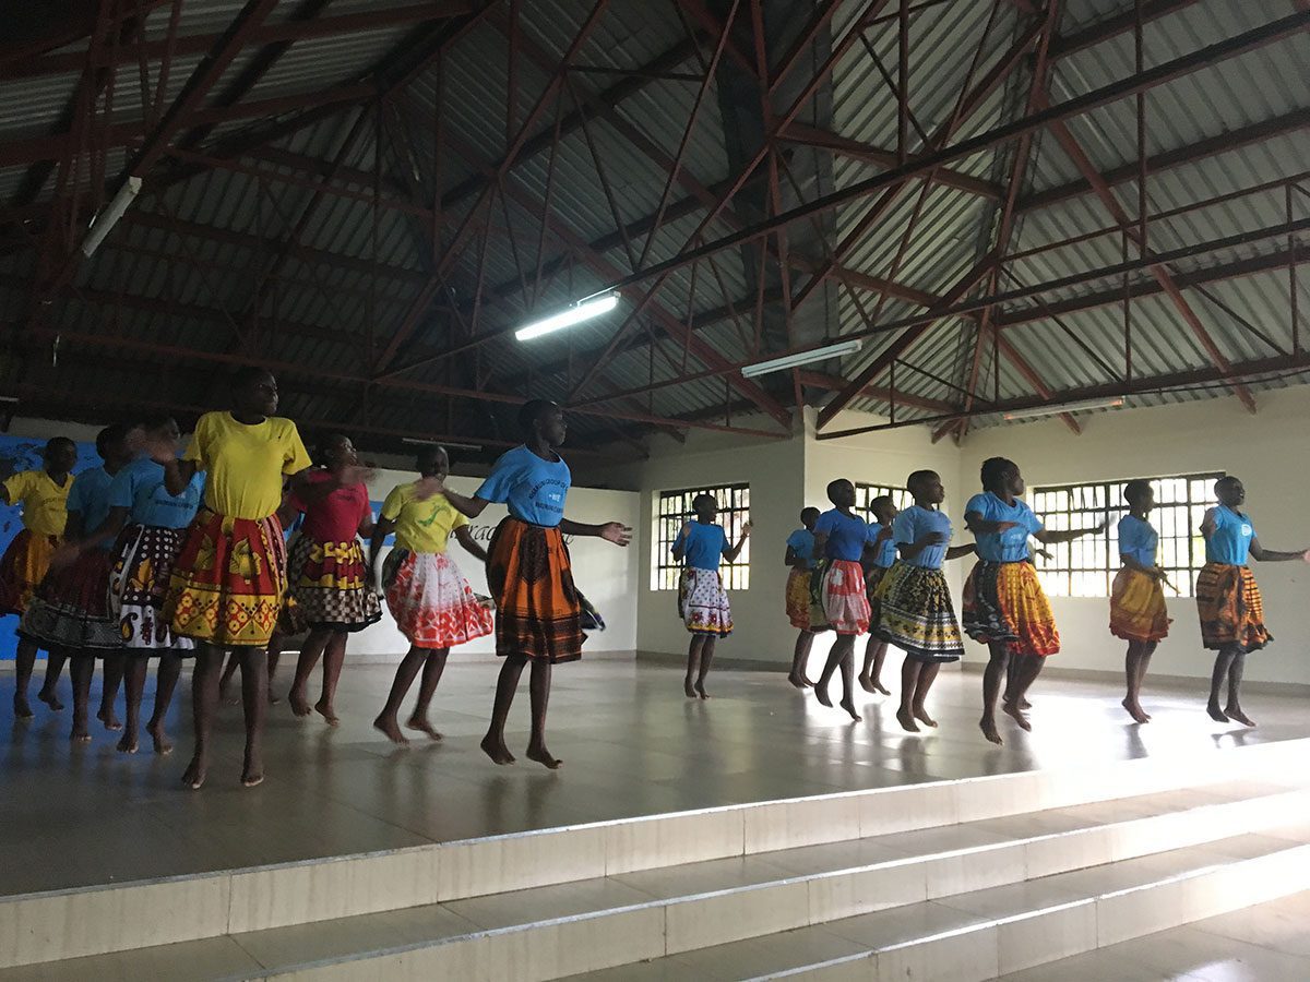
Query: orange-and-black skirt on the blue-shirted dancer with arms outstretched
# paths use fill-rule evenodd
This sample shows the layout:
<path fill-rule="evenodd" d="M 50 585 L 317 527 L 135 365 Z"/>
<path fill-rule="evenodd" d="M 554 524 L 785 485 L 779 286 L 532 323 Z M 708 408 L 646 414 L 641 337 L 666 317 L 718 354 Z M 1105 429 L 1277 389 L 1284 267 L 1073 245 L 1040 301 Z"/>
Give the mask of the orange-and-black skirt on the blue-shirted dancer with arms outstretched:
<path fill-rule="evenodd" d="M 582 657 L 582 604 L 558 528 L 503 518 L 487 549 L 487 585 L 498 655 L 550 663 Z"/>

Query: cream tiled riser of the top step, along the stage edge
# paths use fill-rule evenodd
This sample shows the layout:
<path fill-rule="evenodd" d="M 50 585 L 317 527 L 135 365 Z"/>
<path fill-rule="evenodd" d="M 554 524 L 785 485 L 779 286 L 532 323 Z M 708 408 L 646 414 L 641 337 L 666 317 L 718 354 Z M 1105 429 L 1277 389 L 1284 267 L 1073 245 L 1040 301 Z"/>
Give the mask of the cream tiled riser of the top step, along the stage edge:
<path fill-rule="evenodd" d="M 0 898 L 0 966 L 339 920 L 910 829 L 942 829 L 1178 790 L 1195 782 L 1297 773 L 1307 752 L 1310 740 L 1275 741 L 1205 755 L 872 788 L 10 896 Z M 143 910 L 152 915 L 140 917 Z"/>

